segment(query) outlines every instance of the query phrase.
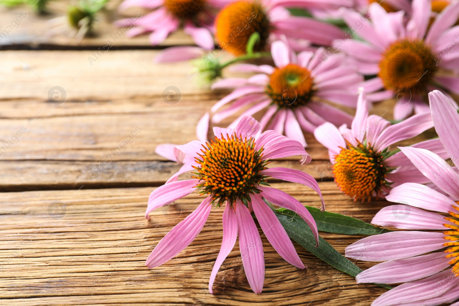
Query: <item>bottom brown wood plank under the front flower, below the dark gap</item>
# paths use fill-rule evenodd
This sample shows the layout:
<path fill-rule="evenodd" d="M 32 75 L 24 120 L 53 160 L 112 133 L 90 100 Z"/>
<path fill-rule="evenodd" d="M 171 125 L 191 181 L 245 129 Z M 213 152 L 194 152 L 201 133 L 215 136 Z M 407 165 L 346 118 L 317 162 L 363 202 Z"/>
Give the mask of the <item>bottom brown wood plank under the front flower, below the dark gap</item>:
<path fill-rule="evenodd" d="M 354 203 L 332 182 L 319 183 L 327 210 L 369 221 L 385 203 Z M 303 203 L 319 196 L 297 184 L 273 184 Z M 369 305 L 385 289 L 355 280 L 296 245 L 308 269 L 285 262 L 263 236 L 263 293 L 247 285 L 237 247 L 218 273 L 215 295 L 207 282 L 222 237 L 222 209 L 212 211 L 201 234 L 184 251 L 152 270 L 152 248 L 199 203 L 190 195 L 151 213 L 144 211 L 151 188 L 34 191 L 3 194 L 0 206 L 0 305 Z M 75 193 L 76 192 L 76 193 Z M 66 214 L 52 214 L 54 201 Z M 55 203 L 56 204 L 56 203 Z M 61 207 L 62 204 L 60 204 Z M 51 208 L 50 208 L 51 207 Z M 50 211 L 50 214 L 49 214 Z M 62 211 L 61 211 L 62 212 Z M 52 218 L 53 216 L 55 218 Z M 59 219 L 60 218 L 60 219 Z M 263 234 L 260 231 L 260 234 Z M 360 237 L 323 234 L 337 250 Z M 357 262 L 362 268 L 372 263 Z"/>

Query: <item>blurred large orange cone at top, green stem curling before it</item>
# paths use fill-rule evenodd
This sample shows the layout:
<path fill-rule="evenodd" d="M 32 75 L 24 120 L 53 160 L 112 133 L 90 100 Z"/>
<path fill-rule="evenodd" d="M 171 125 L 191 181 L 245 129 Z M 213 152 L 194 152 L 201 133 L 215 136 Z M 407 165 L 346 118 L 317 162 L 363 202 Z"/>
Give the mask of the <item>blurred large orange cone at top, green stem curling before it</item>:
<path fill-rule="evenodd" d="M 268 15 L 257 1 L 242 0 L 225 6 L 217 16 L 215 37 L 218 44 L 236 56 L 246 52 L 247 41 L 254 32 L 260 34 L 260 41 L 253 51 L 263 51 L 269 37 Z"/>

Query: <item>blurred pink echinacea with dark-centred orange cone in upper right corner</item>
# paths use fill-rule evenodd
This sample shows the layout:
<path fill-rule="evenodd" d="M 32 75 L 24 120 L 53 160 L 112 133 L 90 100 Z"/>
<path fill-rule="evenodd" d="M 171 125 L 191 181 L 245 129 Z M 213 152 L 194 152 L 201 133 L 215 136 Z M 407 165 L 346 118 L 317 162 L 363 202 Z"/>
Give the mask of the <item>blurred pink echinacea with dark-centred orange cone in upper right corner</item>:
<path fill-rule="evenodd" d="M 433 89 L 459 93 L 459 78 L 445 74 L 459 68 L 459 48 L 455 48 L 459 27 L 453 27 L 459 17 L 458 1 L 451 2 L 432 23 L 430 0 L 413 0 L 406 26 L 403 11 L 388 13 L 373 3 L 369 12 L 371 21 L 365 23 L 359 13 L 343 12 L 349 27 L 361 25 L 356 33 L 364 41 L 336 41 L 336 48 L 352 56 L 360 72 L 377 75 L 365 84 L 369 100 L 397 97 L 394 118 L 402 120 L 413 109 L 428 113 L 427 93 Z"/>

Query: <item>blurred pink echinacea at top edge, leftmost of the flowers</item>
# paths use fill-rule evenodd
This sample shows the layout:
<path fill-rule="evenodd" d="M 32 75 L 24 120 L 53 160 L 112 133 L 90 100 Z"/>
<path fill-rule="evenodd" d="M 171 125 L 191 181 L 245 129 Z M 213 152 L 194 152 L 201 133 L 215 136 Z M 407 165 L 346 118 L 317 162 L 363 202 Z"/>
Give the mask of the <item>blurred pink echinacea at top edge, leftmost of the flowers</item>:
<path fill-rule="evenodd" d="M 118 10 L 122 11 L 131 6 L 154 9 L 151 13 L 140 17 L 135 22 L 131 18 L 118 20 L 118 27 L 131 26 L 126 35 L 132 37 L 141 33 L 151 32 L 151 45 L 161 44 L 169 33 L 174 32 L 183 24 L 184 32 L 191 36 L 196 45 L 210 50 L 213 49 L 213 19 L 214 0 L 124 0 Z M 196 54 L 194 49 L 186 49 Z"/>

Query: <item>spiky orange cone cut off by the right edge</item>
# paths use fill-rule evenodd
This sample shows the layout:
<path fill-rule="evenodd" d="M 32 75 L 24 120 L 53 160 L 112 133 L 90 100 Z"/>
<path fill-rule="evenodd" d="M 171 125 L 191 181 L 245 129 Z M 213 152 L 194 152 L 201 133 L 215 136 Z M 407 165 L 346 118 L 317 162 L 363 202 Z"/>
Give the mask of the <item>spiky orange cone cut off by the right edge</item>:
<path fill-rule="evenodd" d="M 459 204 L 459 201 L 456 201 L 457 204 Z M 446 250 L 444 250 L 446 254 L 446 258 L 451 258 L 451 260 L 448 262 L 448 264 L 453 266 L 453 273 L 454 276 L 459 275 L 459 207 L 458 206 L 451 206 L 453 209 L 452 211 L 448 211 L 450 217 L 444 217 L 446 221 L 449 221 L 453 223 L 451 224 L 443 224 L 443 226 L 447 228 L 451 228 L 451 230 L 444 231 L 443 234 L 445 236 L 443 237 L 446 240 L 449 240 L 449 242 L 446 242 L 443 244 L 443 246 L 446 246 Z"/>

